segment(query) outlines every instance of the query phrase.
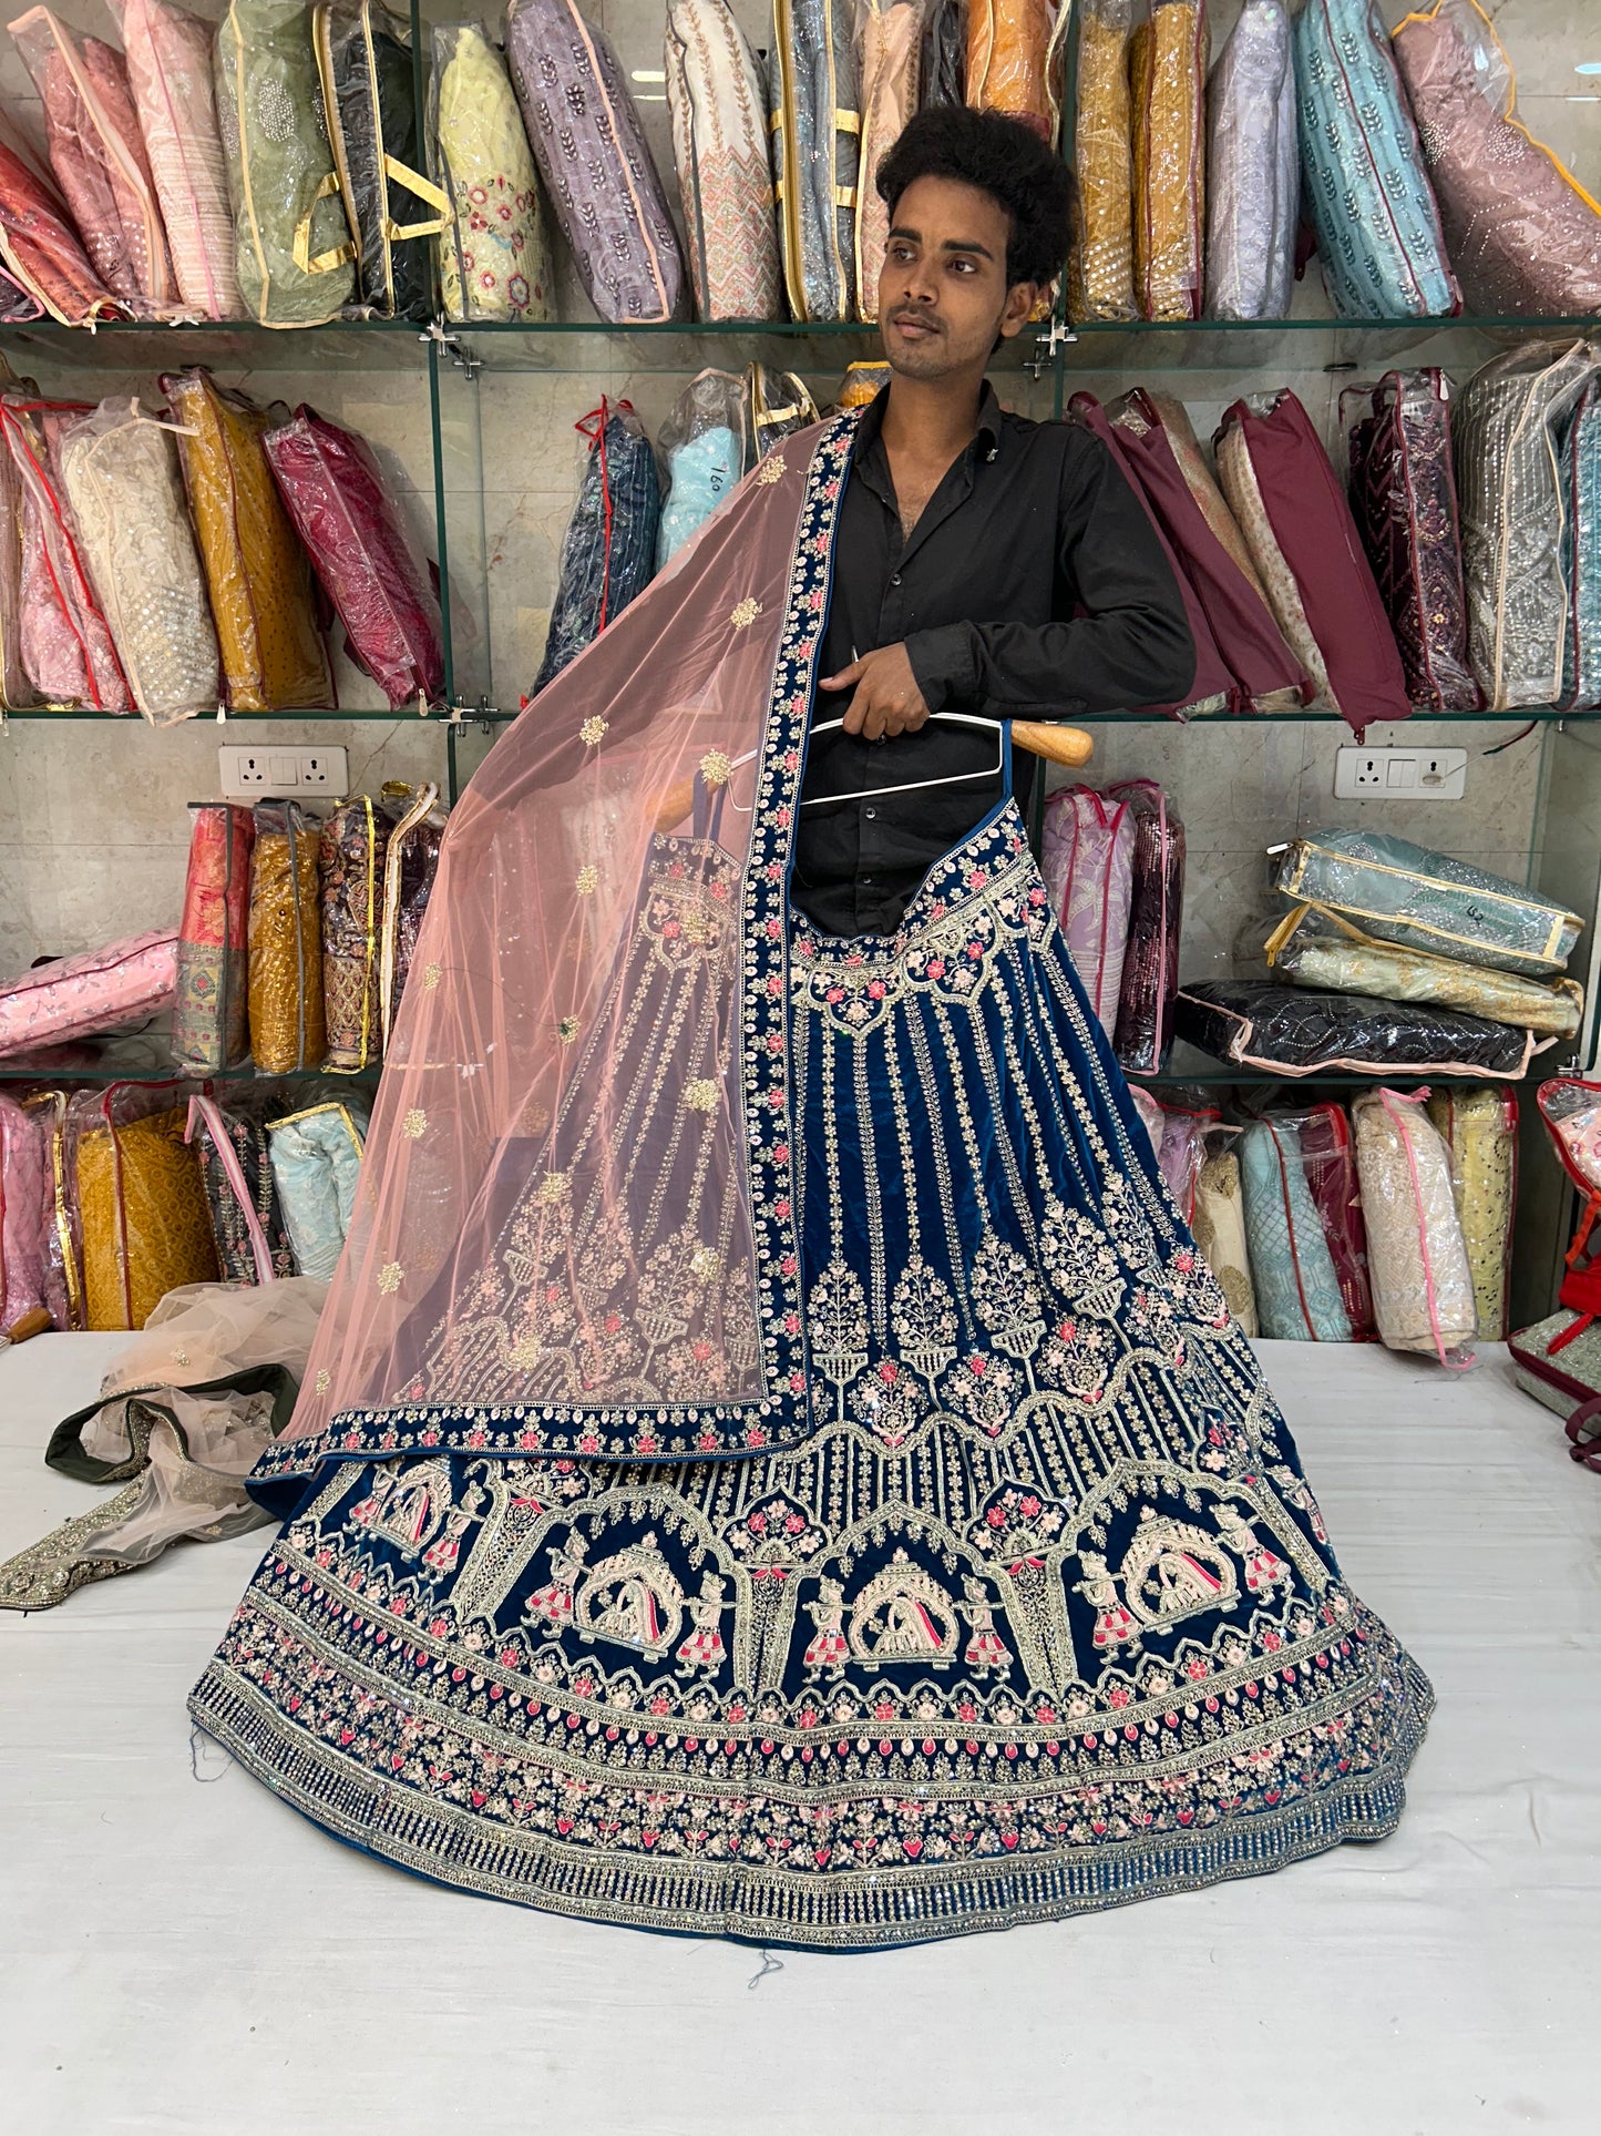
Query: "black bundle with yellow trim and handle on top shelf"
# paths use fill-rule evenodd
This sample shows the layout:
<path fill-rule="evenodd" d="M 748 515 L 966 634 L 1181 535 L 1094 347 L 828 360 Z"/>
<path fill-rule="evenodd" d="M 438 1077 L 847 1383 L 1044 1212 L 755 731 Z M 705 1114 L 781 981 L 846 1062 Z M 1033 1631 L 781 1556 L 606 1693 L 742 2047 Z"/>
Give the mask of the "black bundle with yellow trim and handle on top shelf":
<path fill-rule="evenodd" d="M 433 316 L 433 254 L 450 199 L 423 175 L 412 26 L 380 0 L 312 15 L 322 115 L 346 222 L 356 239 L 356 299 L 376 318 Z"/>

